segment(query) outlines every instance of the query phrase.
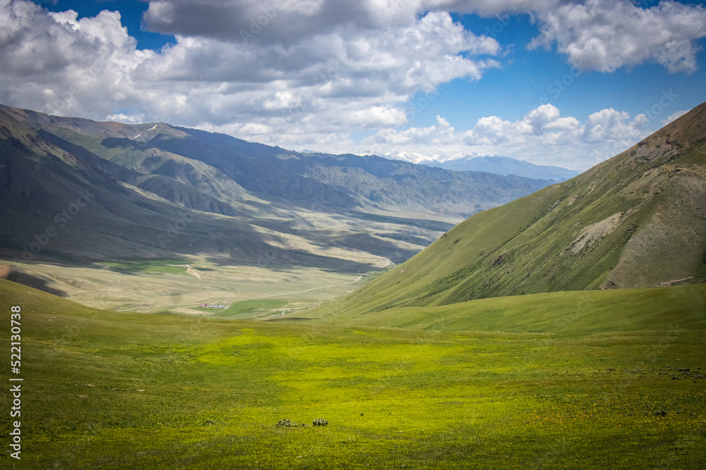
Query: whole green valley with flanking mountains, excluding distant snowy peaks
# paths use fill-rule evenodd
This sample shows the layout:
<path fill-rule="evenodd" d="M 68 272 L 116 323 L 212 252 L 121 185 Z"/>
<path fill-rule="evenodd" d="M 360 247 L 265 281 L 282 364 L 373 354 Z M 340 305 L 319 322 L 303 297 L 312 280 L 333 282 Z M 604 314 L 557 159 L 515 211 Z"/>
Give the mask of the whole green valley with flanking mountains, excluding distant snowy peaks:
<path fill-rule="evenodd" d="M 551 184 L 4 107 L 23 464 L 702 467 L 705 112 Z"/>

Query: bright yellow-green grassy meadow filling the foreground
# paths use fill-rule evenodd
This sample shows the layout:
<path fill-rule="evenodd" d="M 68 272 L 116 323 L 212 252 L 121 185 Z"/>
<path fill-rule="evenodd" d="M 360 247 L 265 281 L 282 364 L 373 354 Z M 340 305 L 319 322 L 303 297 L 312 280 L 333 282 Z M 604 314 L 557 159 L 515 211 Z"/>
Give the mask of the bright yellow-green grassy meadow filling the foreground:
<path fill-rule="evenodd" d="M 572 335 L 342 328 L 100 311 L 8 281 L 0 292 L 6 325 L 22 307 L 17 468 L 706 464 L 703 319 Z M 275 428 L 285 418 L 329 425 Z"/>

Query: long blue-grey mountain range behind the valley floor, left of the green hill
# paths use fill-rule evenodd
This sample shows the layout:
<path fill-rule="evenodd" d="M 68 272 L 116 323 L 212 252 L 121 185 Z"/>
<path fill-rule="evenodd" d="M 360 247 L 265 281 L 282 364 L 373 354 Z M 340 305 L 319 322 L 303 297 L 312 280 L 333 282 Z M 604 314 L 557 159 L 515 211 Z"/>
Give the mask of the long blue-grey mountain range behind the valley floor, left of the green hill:
<path fill-rule="evenodd" d="M 25 261 L 275 252 L 359 272 L 548 183 L 0 105 L 0 254 Z"/>

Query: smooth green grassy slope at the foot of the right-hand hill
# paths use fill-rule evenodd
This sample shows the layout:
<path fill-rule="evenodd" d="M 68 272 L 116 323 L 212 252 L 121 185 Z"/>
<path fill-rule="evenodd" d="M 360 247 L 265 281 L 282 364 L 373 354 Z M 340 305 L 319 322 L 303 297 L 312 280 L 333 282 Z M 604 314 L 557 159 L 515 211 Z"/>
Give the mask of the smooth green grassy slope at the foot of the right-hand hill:
<path fill-rule="evenodd" d="M 705 329 L 706 284 L 513 295 L 374 314 L 305 312 L 297 314 L 297 323 L 557 335 Z"/>

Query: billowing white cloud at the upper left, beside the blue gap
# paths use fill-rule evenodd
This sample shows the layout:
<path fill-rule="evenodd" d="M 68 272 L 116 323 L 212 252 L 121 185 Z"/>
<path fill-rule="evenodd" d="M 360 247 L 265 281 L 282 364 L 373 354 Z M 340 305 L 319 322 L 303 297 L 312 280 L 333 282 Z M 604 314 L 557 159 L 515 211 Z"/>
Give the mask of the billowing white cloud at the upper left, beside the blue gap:
<path fill-rule="evenodd" d="M 29 1 L 0 2 L 0 99 L 49 112 L 105 118 L 136 94 L 133 71 L 153 51 L 138 51 L 120 14 L 78 20 Z M 121 106 L 124 108 L 125 106 Z"/>

